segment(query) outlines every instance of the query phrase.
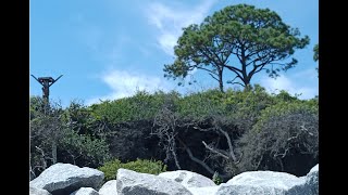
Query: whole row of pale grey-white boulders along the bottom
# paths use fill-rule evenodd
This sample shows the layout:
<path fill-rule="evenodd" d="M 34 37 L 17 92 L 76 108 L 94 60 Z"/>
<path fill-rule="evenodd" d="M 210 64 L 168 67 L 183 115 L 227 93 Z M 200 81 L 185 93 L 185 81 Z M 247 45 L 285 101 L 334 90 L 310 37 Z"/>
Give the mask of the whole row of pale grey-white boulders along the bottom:
<path fill-rule="evenodd" d="M 243 172 L 216 185 L 201 174 L 178 170 L 159 176 L 117 170 L 117 180 L 102 184 L 103 172 L 55 164 L 29 182 L 30 195 L 315 195 L 319 165 L 304 177 L 285 172 Z"/>

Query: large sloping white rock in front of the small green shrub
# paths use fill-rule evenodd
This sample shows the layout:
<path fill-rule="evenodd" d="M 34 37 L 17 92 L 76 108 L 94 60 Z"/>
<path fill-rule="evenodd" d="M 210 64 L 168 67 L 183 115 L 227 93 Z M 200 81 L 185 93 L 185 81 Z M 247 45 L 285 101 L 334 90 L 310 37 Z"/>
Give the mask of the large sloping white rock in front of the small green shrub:
<path fill-rule="evenodd" d="M 154 174 L 117 170 L 119 195 L 192 195 L 184 185 Z"/>

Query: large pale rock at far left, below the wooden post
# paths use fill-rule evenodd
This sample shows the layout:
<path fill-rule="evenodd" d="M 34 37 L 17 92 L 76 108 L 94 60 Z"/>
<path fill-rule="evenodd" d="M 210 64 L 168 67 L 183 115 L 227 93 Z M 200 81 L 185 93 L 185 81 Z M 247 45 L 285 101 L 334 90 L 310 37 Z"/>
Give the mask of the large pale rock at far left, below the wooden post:
<path fill-rule="evenodd" d="M 70 164 L 54 164 L 29 182 L 30 186 L 45 188 L 52 195 L 66 195 L 80 187 L 98 188 L 104 173 L 88 167 Z"/>

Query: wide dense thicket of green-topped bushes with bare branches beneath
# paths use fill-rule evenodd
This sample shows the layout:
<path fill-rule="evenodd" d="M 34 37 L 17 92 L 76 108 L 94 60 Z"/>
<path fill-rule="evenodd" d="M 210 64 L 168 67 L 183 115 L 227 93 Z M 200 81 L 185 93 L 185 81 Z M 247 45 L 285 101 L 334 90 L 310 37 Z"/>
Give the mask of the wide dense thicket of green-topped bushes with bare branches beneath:
<path fill-rule="evenodd" d="M 58 142 L 58 160 L 79 166 L 156 159 L 169 170 L 209 178 L 219 172 L 226 180 L 259 169 L 300 176 L 318 162 L 318 100 L 300 101 L 286 91 L 270 94 L 260 86 L 186 95 L 139 91 L 91 106 L 72 103 L 50 120 L 40 115 L 38 98 L 30 103 L 36 164 L 42 159 L 36 146 L 45 148 L 50 162 L 50 144 L 39 130 L 41 121 L 52 119 L 64 129 L 57 131 L 64 138 Z"/>

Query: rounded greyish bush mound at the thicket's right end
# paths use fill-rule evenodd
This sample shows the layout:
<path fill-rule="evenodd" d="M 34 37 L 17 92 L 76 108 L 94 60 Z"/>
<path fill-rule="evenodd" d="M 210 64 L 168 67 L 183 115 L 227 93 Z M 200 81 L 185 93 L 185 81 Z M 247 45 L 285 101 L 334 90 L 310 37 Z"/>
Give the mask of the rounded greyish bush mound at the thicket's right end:
<path fill-rule="evenodd" d="M 244 170 L 276 170 L 303 176 L 318 162 L 318 104 L 281 102 L 265 108 L 238 142 Z"/>

